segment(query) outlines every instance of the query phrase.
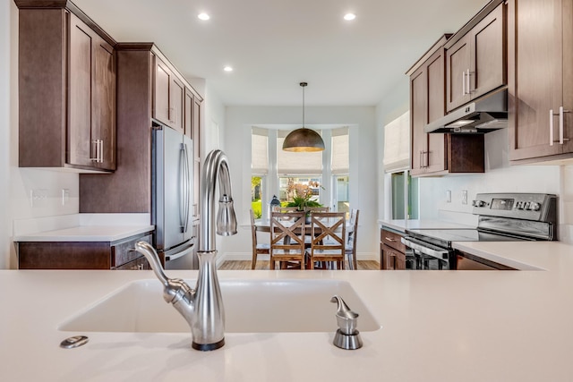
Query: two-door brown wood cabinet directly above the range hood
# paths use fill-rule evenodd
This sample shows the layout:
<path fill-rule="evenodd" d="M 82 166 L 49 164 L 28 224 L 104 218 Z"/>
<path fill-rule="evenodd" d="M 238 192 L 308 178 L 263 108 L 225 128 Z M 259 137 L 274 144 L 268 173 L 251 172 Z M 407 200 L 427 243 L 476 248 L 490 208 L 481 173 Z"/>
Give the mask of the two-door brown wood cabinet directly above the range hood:
<path fill-rule="evenodd" d="M 492 2 L 446 45 L 448 112 L 507 84 L 506 9 Z"/>

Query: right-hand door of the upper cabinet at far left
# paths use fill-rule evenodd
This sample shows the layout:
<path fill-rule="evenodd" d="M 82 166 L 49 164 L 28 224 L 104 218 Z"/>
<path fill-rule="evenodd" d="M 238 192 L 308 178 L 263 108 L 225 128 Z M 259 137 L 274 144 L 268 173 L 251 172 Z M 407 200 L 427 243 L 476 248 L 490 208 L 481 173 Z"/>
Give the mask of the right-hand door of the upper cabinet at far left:
<path fill-rule="evenodd" d="M 115 51 L 102 38 L 95 41 L 91 137 L 99 160 L 93 166 L 115 170 Z"/>

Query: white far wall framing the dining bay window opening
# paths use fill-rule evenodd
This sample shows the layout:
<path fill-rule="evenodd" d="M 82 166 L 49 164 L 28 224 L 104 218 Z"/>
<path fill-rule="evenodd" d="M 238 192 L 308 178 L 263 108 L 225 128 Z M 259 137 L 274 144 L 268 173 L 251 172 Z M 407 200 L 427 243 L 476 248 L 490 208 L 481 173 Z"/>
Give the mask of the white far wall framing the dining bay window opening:
<path fill-rule="evenodd" d="M 300 124 L 300 107 L 228 106 L 225 148 L 232 176 L 239 233 L 222 242 L 229 257 L 251 254 L 251 127 L 253 124 Z M 350 203 L 360 209 L 359 258 L 377 259 L 379 234 L 375 109 L 368 106 L 307 106 L 305 124 L 353 125 L 350 131 Z M 352 129 L 355 129 L 353 131 Z"/>

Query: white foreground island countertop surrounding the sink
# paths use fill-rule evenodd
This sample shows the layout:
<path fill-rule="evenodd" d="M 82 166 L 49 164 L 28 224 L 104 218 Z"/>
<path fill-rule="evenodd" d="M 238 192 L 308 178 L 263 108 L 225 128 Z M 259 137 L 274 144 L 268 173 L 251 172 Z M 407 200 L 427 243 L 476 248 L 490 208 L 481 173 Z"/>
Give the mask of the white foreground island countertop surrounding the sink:
<path fill-rule="evenodd" d="M 572 380 L 573 246 L 465 244 L 543 270 L 218 272 L 221 280 L 348 281 L 381 325 L 361 332 L 356 351 L 331 344 L 334 306 L 330 333 L 227 333 L 213 352 L 193 351 L 190 333 L 60 331 L 124 284 L 158 281 L 151 271 L 0 271 L 0 380 Z M 168 276 L 193 279 L 196 271 Z M 80 334 L 90 342 L 59 347 Z"/>

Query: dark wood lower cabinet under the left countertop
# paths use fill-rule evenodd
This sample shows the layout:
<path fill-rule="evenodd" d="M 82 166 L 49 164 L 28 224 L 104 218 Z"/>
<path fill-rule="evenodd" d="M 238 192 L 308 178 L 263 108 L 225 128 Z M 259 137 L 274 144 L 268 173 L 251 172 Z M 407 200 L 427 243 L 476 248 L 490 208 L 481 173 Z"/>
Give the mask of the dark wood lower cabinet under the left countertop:
<path fill-rule="evenodd" d="M 19 269 L 150 269 L 135 242 L 151 243 L 151 234 L 117 242 L 18 242 Z"/>

